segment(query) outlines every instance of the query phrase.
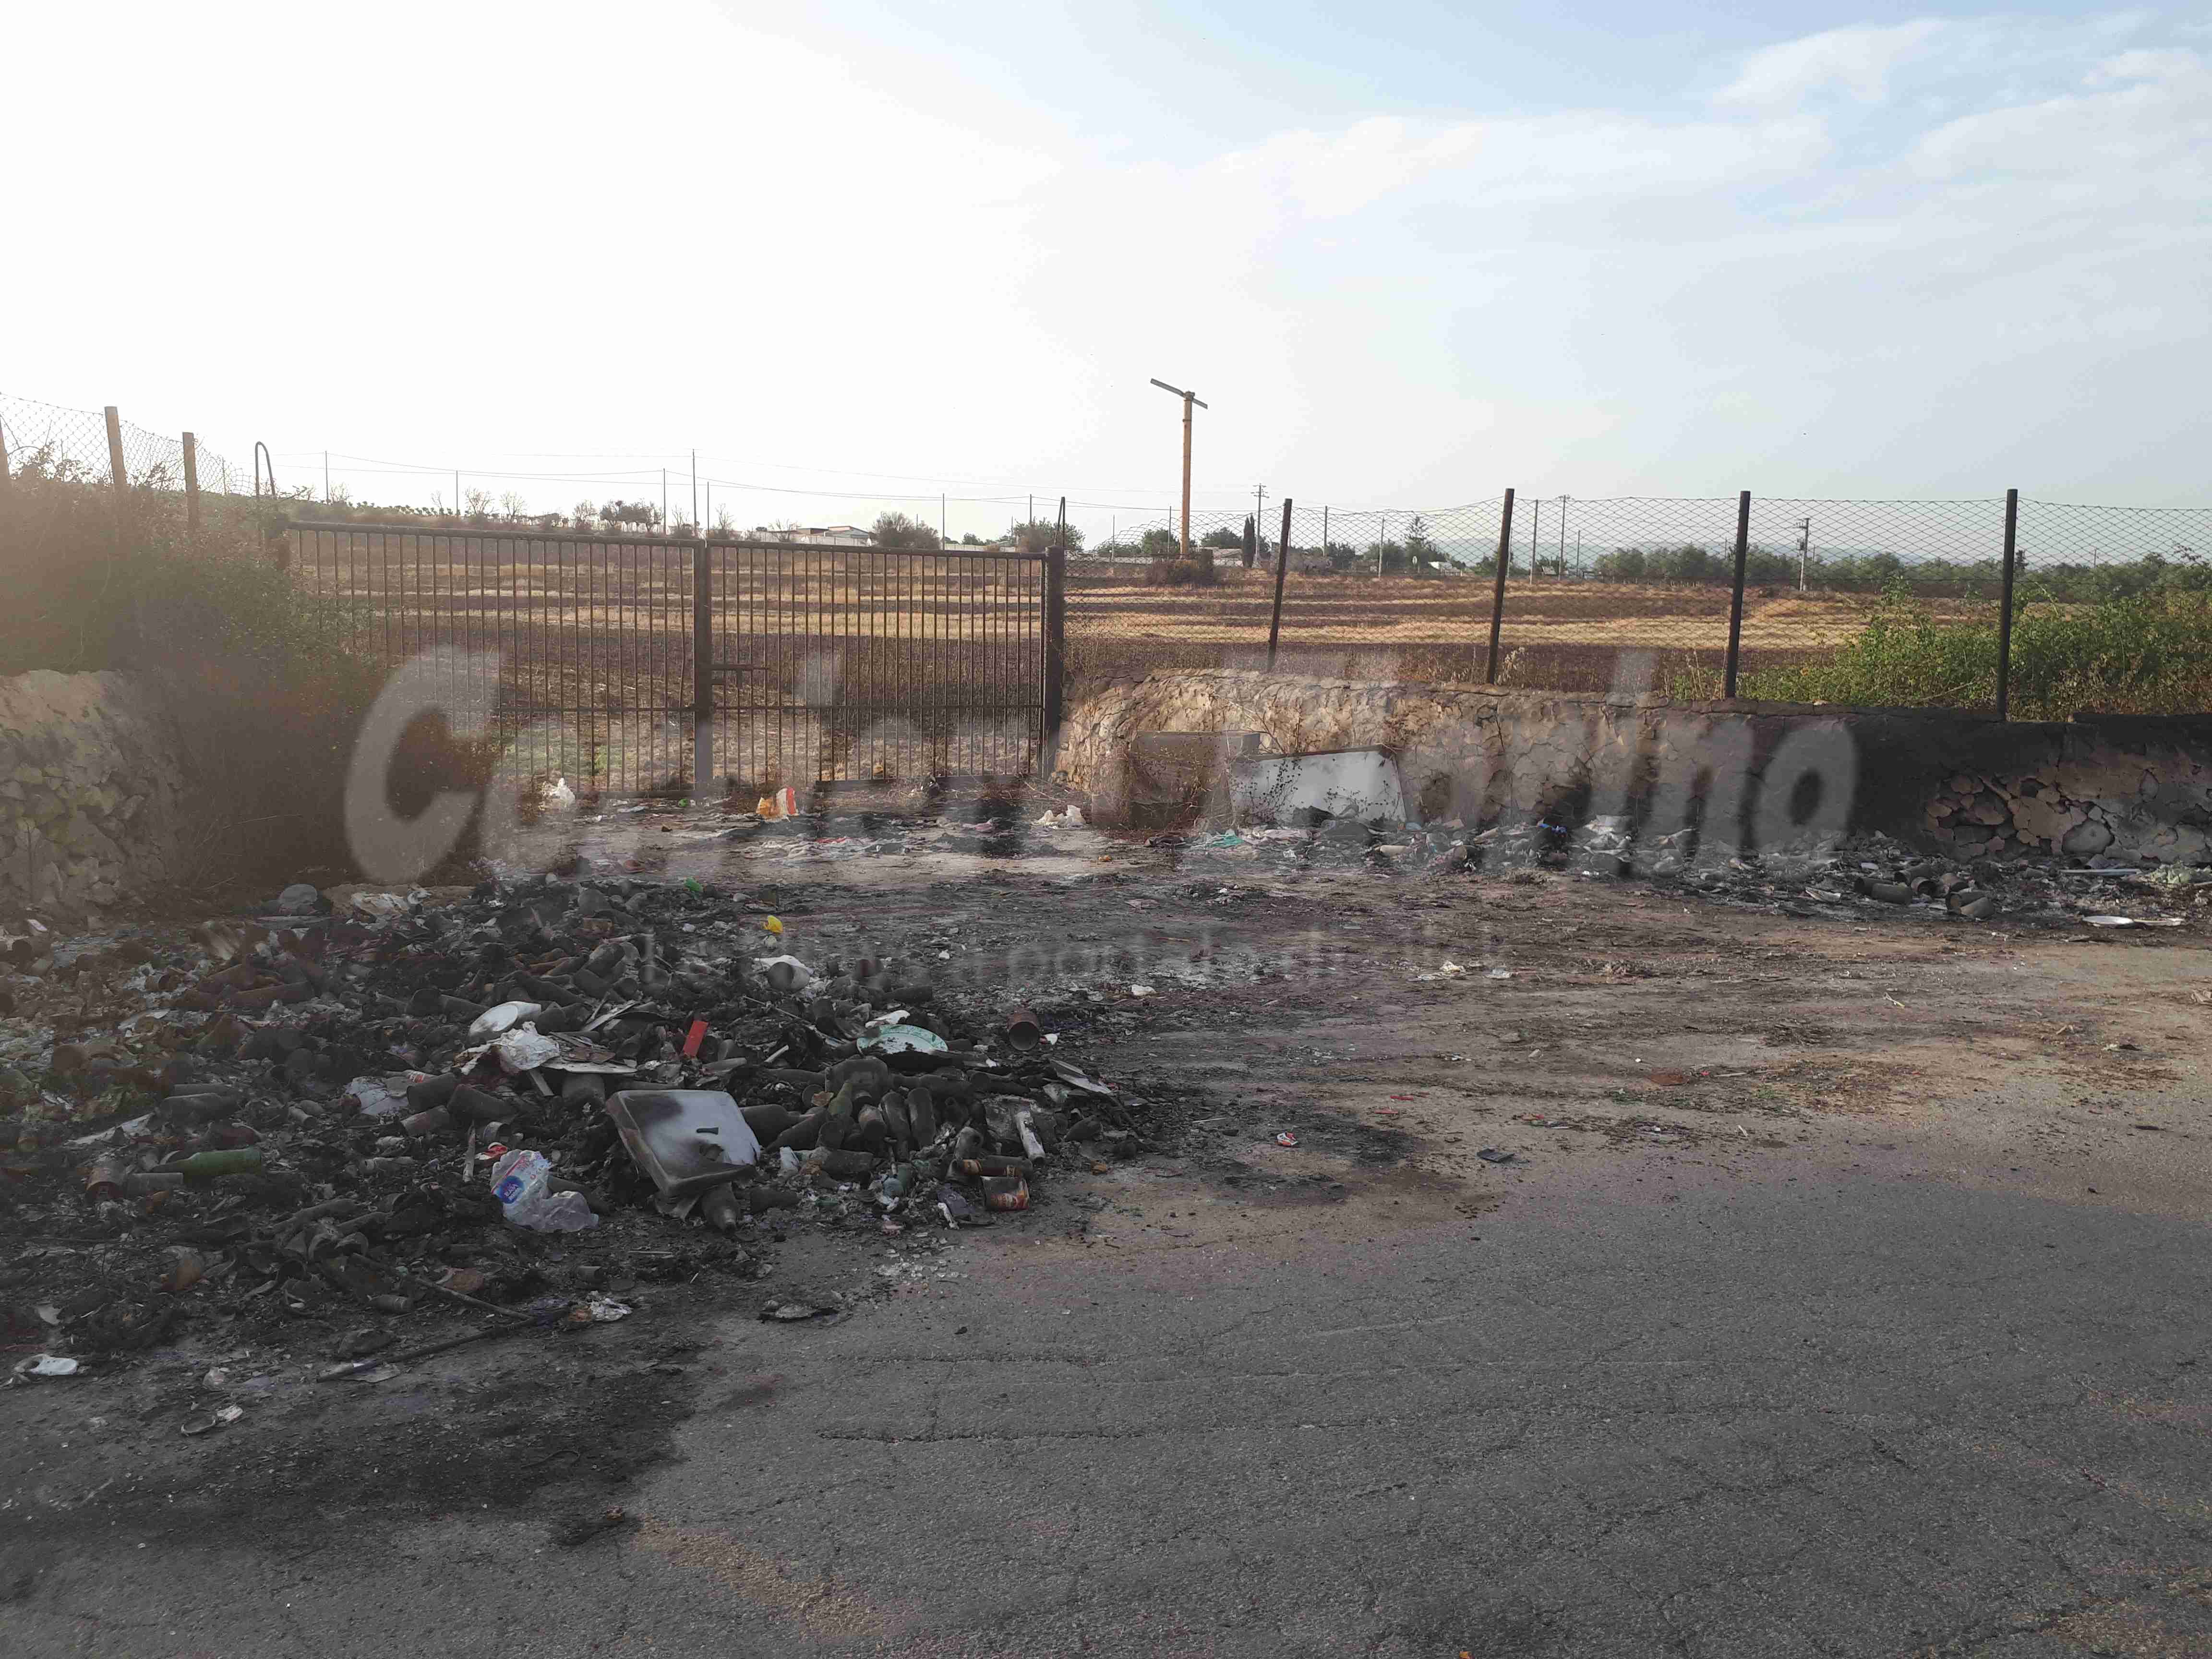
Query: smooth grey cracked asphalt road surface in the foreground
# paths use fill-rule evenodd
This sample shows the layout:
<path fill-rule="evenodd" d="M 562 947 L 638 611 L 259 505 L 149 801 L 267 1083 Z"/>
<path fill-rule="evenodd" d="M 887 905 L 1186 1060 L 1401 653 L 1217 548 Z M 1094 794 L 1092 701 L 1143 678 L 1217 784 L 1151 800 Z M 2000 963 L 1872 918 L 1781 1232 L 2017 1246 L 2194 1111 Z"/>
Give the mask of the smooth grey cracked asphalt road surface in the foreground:
<path fill-rule="evenodd" d="M 2212 1650 L 2197 1219 L 1900 1144 L 1245 1201 L 834 1327 L 726 1321 L 639 1524 L 84 1535 L 22 1655 L 2077 1655 Z M 1869 1161 L 1874 1159 L 1874 1161 Z M 1502 1186 L 1509 1179 L 1502 1177 Z M 1137 1214 L 1141 1210 L 1141 1214 Z M 1172 1219 L 1170 1219 L 1172 1212 Z M 672 1396 L 675 1398 L 675 1396 Z"/>

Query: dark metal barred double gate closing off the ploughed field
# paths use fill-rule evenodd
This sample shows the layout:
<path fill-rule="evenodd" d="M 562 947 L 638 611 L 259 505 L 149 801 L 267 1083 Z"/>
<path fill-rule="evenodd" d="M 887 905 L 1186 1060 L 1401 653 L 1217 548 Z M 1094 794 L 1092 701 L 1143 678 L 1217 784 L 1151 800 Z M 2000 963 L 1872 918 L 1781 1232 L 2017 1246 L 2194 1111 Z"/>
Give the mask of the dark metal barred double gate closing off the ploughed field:
<path fill-rule="evenodd" d="M 1057 551 L 288 529 L 356 653 L 434 653 L 456 697 L 489 697 L 511 776 L 699 796 L 1013 779 L 1060 723 Z"/>

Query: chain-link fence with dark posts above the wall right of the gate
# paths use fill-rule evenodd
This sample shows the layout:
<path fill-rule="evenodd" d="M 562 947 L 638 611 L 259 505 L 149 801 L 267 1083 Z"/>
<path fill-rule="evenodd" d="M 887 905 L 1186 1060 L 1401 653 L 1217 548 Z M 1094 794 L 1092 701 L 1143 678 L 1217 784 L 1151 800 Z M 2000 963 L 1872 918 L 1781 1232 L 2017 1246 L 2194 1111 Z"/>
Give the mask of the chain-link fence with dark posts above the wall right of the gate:
<path fill-rule="evenodd" d="M 1272 657 L 1307 675 L 1542 690 L 2212 710 L 2212 509 L 2004 495 L 1294 507 L 1281 604 L 1279 511 L 1192 513 L 1190 538 L 1186 560 L 1179 522 L 1141 522 L 1068 560 L 1073 697 Z"/>

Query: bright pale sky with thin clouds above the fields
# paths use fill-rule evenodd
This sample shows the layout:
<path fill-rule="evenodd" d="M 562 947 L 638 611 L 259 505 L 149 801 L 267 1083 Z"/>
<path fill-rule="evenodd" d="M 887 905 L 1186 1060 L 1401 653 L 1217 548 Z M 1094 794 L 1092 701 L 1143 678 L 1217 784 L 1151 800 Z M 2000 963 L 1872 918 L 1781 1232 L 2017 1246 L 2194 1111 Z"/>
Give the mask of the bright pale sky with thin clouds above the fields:
<path fill-rule="evenodd" d="M 2205 504 L 2212 4 L 24 9 L 0 394 L 356 500 Z"/>

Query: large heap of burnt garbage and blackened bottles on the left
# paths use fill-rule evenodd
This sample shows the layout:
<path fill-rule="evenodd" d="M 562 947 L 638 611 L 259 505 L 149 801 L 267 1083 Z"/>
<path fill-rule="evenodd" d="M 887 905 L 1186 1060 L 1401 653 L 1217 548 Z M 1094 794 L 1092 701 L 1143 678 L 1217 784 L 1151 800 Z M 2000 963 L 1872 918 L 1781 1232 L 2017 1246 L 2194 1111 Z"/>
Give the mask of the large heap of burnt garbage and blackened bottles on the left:
<path fill-rule="evenodd" d="M 1024 1011 L 807 962 L 728 894 L 449 894 L 0 942 L 13 1347 L 754 1276 L 794 1223 L 984 1225 L 1139 1144 Z"/>

